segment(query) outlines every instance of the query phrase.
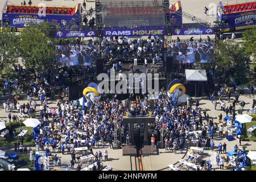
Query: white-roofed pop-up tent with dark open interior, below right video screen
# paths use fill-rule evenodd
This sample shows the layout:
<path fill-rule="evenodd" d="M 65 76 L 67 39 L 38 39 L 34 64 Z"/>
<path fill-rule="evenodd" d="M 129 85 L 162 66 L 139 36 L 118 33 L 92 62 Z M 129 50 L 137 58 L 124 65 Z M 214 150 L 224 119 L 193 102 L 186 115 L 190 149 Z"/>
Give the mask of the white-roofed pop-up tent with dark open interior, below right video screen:
<path fill-rule="evenodd" d="M 188 93 L 191 96 L 201 96 L 207 84 L 207 73 L 205 69 L 185 69 L 186 80 L 189 84 L 187 88 L 195 87 L 195 94 L 193 94 L 193 89 L 190 90 L 191 93 Z M 200 91 L 200 93 L 199 93 Z M 189 92 L 189 91 L 188 91 Z"/>

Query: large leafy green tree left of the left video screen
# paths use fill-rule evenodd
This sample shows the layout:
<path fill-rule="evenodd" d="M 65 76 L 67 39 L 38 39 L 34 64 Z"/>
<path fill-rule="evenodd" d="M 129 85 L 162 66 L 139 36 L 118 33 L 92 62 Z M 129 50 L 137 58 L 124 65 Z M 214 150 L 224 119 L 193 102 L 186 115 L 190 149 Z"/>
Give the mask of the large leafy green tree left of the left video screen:
<path fill-rule="evenodd" d="M 49 22 L 29 23 L 20 34 L 20 56 L 26 68 L 43 73 L 55 64 L 55 46 Z"/>

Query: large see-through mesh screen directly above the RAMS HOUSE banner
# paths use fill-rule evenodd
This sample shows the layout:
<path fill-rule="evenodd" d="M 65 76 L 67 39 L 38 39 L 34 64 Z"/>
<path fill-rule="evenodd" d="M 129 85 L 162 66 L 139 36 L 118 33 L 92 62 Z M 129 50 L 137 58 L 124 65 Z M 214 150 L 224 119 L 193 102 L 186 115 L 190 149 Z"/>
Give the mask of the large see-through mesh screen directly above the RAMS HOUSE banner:
<path fill-rule="evenodd" d="M 161 2 L 102 1 L 102 23 L 106 27 L 163 26 L 165 18 Z"/>

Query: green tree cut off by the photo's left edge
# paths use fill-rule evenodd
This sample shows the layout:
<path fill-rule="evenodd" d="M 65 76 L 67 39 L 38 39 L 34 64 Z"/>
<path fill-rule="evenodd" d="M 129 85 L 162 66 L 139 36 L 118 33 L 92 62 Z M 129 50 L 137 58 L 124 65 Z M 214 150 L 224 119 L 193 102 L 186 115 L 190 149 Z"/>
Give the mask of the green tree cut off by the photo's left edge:
<path fill-rule="evenodd" d="M 14 71 L 14 65 L 18 62 L 19 36 L 11 32 L 9 28 L 0 31 L 0 76 L 10 76 Z"/>

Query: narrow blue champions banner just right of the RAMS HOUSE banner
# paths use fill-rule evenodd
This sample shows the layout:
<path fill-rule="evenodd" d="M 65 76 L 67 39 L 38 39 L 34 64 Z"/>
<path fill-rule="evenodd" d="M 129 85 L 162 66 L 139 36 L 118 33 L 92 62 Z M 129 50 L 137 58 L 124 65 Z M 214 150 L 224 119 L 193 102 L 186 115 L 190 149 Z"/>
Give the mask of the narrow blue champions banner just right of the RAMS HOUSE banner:
<path fill-rule="evenodd" d="M 214 28 L 174 28 L 172 35 L 210 35 Z"/>

